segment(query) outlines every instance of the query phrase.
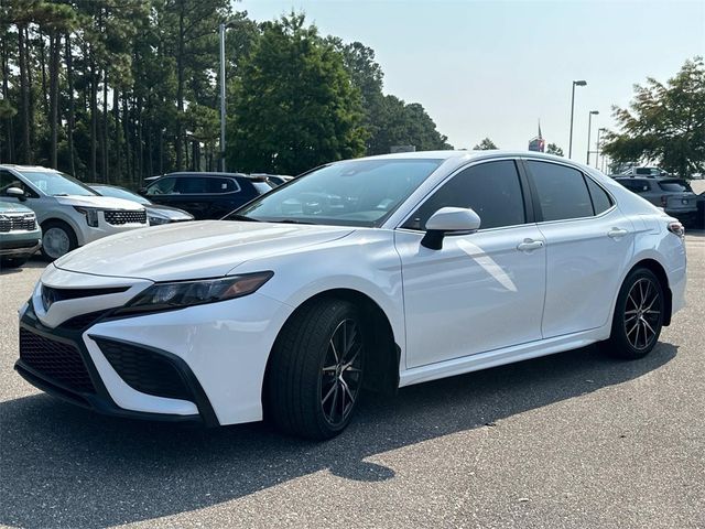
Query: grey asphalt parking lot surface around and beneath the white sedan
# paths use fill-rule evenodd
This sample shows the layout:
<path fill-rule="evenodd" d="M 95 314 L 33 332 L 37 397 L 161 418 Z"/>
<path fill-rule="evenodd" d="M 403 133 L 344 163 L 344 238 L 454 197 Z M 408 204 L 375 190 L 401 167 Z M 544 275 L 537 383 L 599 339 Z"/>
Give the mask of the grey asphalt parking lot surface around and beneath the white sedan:
<path fill-rule="evenodd" d="M 0 526 L 705 527 L 705 234 L 653 353 L 595 347 L 369 397 L 323 444 L 110 419 L 12 369 L 44 263 L 0 276 Z"/>

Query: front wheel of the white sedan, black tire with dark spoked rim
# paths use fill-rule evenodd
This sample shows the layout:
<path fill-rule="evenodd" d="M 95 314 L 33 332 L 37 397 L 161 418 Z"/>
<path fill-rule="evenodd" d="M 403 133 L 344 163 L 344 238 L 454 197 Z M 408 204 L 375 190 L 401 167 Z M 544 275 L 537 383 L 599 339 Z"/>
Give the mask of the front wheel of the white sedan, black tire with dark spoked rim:
<path fill-rule="evenodd" d="M 345 430 L 362 387 L 364 331 L 343 300 L 315 301 L 286 323 L 267 377 L 268 415 L 280 430 L 314 440 Z"/>

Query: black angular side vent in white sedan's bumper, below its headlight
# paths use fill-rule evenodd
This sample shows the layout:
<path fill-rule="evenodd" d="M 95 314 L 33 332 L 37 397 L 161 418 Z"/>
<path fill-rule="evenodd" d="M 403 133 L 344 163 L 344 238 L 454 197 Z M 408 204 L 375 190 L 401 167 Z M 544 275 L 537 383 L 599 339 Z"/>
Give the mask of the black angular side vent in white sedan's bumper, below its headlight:
<path fill-rule="evenodd" d="M 112 368 L 131 388 L 156 397 L 193 400 L 181 374 L 163 355 L 112 339 L 94 339 Z"/>

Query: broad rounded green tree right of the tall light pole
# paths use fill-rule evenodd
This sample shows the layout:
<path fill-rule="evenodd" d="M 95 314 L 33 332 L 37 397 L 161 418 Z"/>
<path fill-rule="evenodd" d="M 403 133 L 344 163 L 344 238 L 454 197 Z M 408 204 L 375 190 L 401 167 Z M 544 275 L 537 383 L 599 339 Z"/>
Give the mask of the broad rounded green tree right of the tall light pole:
<path fill-rule="evenodd" d="M 365 152 L 360 91 L 303 14 L 263 24 L 240 69 L 228 163 L 296 174 Z"/>

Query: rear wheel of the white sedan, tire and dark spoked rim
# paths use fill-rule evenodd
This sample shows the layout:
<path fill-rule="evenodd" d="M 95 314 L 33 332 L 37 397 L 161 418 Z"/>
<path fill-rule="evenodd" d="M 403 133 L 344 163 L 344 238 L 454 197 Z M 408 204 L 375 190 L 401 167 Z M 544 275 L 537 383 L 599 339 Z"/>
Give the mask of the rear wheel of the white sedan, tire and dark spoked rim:
<path fill-rule="evenodd" d="M 657 345 L 665 312 L 665 296 L 659 278 L 647 268 L 627 276 L 619 290 L 612 330 L 603 349 L 617 358 L 647 356 Z"/>

